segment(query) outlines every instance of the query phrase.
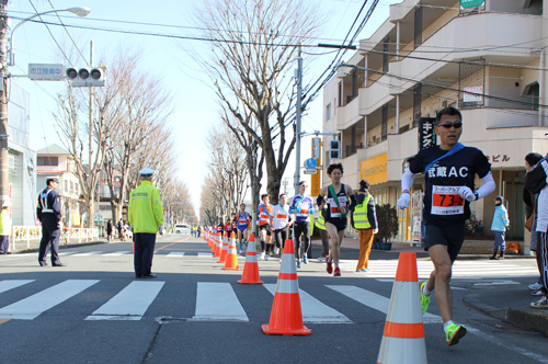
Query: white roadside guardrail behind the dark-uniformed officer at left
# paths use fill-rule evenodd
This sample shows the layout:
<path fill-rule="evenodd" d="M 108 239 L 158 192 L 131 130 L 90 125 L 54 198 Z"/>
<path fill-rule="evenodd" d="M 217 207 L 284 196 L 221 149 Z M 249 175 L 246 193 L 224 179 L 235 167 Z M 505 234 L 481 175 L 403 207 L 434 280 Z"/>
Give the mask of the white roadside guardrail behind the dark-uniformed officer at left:
<path fill-rule="evenodd" d="M 65 228 L 61 230 L 59 243 L 88 242 L 99 238 L 99 231 L 94 228 Z M 36 226 L 14 226 L 11 235 L 12 251 L 21 250 L 21 243 L 26 242 L 26 249 L 31 249 L 31 242 L 39 242 L 42 239 L 42 227 Z M 35 244 L 33 244 L 35 246 Z"/>

